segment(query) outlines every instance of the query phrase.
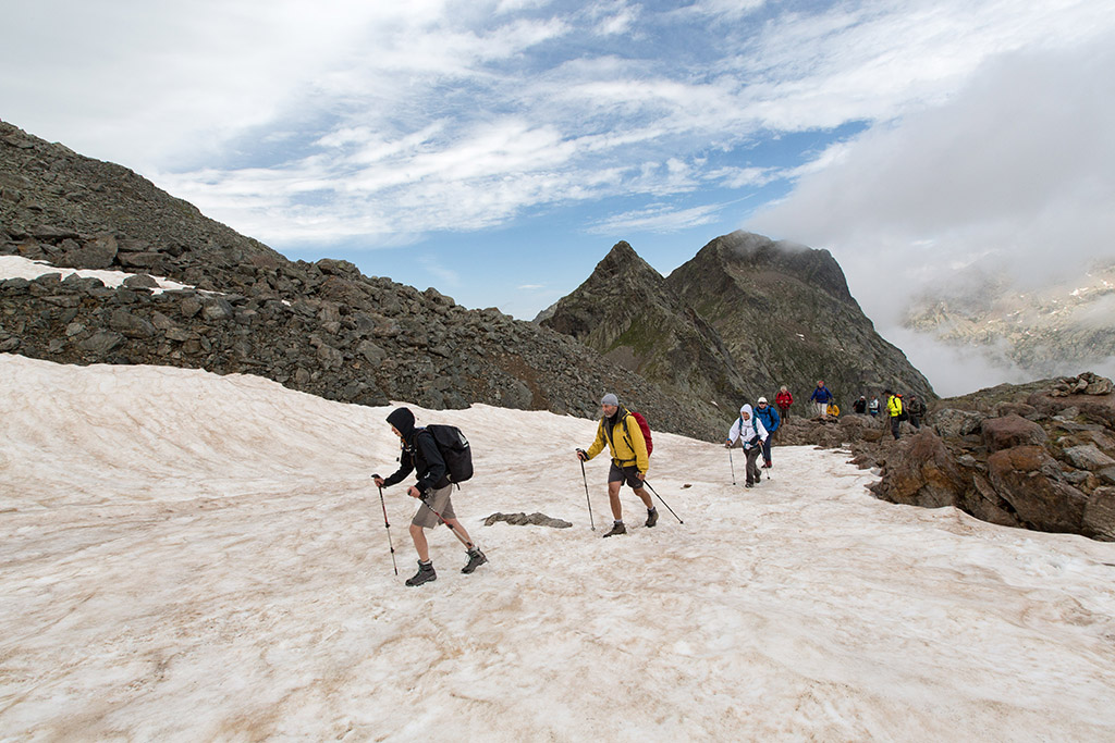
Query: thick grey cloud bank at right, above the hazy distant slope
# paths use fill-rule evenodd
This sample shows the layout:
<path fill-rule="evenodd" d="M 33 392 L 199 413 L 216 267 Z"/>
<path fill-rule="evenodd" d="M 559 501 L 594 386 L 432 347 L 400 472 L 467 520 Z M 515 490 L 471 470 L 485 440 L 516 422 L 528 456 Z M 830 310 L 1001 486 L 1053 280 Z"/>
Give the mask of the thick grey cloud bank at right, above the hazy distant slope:
<path fill-rule="evenodd" d="M 1044 285 L 1115 257 L 1115 99 L 1096 87 L 1115 79 L 1113 49 L 996 58 L 943 104 L 826 151 L 748 227 L 830 247 L 890 336 L 925 292 Z M 1001 381 L 953 361 L 976 364 L 969 389 Z"/>

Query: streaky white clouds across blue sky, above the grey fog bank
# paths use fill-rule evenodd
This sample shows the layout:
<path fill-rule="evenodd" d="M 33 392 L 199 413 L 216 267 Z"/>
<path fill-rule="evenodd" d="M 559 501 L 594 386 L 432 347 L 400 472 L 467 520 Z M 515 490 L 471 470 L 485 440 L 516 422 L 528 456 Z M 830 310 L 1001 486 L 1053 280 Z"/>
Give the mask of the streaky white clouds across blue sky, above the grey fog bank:
<path fill-rule="evenodd" d="M 614 221 L 658 229 L 712 218 L 667 217 L 669 196 L 827 165 L 752 165 L 746 147 L 940 105 L 993 55 L 1113 28 L 1109 6 L 39 0 L 4 11 L 0 65 L 20 74 L 0 100 L 280 245 L 398 244 L 608 196 L 644 197 Z"/>

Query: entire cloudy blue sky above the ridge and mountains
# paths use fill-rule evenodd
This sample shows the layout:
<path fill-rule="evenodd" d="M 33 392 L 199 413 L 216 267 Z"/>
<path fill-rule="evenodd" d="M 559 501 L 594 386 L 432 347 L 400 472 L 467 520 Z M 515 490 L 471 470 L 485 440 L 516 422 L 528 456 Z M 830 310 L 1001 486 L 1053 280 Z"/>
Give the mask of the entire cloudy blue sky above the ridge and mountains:
<path fill-rule="evenodd" d="M 4 26 L 4 119 L 291 257 L 521 317 L 619 239 L 663 273 L 737 228 L 828 247 L 884 333 L 1066 224 L 1060 270 L 1115 244 L 1115 0 L 39 0 Z"/>

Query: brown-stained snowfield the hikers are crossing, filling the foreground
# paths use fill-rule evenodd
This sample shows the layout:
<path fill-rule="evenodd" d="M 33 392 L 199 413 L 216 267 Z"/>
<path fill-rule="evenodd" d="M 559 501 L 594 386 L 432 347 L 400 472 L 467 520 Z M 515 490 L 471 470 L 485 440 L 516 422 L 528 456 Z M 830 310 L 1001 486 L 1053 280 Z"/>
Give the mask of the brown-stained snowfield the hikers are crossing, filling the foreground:
<path fill-rule="evenodd" d="M 685 525 L 624 496 L 601 539 L 593 422 L 420 411 L 472 438 L 455 501 L 491 563 L 462 575 L 443 528 L 406 588 L 414 501 L 387 493 L 395 577 L 368 480 L 386 409 L 10 354 L 0 379 L 0 739 L 1115 737 L 1115 546 L 878 501 L 840 453 L 776 450 L 744 490 L 658 434 Z"/>

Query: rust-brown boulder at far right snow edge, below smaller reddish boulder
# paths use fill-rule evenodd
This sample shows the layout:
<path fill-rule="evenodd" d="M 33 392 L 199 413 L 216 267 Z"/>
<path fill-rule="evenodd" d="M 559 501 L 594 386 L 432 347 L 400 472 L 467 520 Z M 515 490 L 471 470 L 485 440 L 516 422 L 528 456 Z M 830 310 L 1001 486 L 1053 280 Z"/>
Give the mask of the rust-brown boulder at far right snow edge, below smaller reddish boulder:
<path fill-rule="evenodd" d="M 1060 480 L 1057 461 L 1041 447 L 1015 447 L 991 454 L 988 479 L 1019 519 L 1043 531 L 1079 534 L 1087 497 Z"/>

